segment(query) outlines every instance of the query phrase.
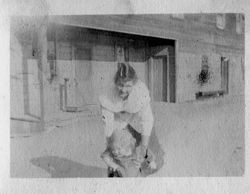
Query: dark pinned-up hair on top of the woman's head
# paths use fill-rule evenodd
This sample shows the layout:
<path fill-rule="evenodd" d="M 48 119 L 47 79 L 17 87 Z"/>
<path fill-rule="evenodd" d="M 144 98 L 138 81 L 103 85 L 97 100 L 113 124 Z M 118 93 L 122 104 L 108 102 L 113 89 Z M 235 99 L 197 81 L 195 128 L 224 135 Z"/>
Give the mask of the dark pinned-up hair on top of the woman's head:
<path fill-rule="evenodd" d="M 135 83 L 138 80 L 137 74 L 132 66 L 125 63 L 118 64 L 118 70 L 115 74 L 114 82 L 116 85 L 133 81 Z"/>

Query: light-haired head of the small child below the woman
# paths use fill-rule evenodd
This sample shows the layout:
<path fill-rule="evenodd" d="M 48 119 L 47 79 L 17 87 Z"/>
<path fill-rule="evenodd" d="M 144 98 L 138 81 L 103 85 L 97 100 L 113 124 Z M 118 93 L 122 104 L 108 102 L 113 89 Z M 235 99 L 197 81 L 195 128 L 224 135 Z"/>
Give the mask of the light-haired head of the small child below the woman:
<path fill-rule="evenodd" d="M 115 130 L 110 137 L 109 148 L 115 156 L 130 156 L 136 140 L 127 129 Z"/>

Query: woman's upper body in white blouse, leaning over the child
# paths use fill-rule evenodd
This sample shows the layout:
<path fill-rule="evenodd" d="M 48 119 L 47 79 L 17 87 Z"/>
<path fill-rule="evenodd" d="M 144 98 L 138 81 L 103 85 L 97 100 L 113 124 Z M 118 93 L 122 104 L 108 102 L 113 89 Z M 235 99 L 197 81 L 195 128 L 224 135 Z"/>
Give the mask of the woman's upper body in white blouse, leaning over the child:
<path fill-rule="evenodd" d="M 143 162 L 149 149 L 154 123 L 149 91 L 129 64 L 119 64 L 114 83 L 112 97 L 100 97 L 107 142 L 114 130 L 123 129 L 130 124 L 140 135 L 137 159 Z"/>

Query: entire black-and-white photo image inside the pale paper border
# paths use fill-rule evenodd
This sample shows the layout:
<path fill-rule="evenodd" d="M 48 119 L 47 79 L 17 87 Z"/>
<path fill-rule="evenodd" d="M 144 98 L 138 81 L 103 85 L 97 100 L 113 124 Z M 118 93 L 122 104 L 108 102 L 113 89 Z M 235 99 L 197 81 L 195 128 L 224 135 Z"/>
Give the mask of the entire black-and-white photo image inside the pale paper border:
<path fill-rule="evenodd" d="M 245 15 L 11 16 L 10 177 L 242 177 Z"/>

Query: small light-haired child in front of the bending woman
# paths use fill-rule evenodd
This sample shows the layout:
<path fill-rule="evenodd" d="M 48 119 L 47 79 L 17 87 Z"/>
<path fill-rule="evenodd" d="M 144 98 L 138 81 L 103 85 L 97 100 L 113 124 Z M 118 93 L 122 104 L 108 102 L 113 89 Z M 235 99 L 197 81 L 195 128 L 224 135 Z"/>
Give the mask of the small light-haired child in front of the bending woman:
<path fill-rule="evenodd" d="M 151 153 L 139 156 L 141 137 L 130 125 L 114 130 L 107 141 L 107 149 L 101 155 L 108 166 L 109 177 L 138 177 L 154 171 L 156 165 Z"/>

